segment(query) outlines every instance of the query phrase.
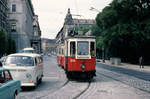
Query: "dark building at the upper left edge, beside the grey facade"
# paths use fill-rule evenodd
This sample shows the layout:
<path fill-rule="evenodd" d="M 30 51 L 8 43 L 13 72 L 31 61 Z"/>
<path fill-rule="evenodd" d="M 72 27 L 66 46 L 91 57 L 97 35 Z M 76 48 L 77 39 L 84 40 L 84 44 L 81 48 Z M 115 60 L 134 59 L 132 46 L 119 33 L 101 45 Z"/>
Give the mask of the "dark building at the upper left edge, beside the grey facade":
<path fill-rule="evenodd" d="M 0 31 L 5 29 L 8 31 L 8 0 L 0 0 Z"/>

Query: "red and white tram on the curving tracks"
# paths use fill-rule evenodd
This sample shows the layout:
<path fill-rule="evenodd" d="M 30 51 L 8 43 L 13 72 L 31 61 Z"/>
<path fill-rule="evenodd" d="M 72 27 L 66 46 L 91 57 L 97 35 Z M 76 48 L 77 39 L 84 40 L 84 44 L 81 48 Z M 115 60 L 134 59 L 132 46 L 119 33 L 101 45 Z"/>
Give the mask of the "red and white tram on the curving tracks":
<path fill-rule="evenodd" d="M 57 62 L 62 66 L 68 78 L 96 75 L 96 47 L 93 36 L 67 37 L 57 46 Z"/>

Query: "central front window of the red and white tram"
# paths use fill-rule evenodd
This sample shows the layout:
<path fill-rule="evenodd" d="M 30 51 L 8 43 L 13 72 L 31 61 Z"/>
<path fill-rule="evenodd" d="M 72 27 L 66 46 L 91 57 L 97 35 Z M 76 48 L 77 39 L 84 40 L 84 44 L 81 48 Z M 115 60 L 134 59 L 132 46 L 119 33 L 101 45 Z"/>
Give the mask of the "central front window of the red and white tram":
<path fill-rule="evenodd" d="M 89 55 L 88 42 L 78 42 L 78 55 Z"/>

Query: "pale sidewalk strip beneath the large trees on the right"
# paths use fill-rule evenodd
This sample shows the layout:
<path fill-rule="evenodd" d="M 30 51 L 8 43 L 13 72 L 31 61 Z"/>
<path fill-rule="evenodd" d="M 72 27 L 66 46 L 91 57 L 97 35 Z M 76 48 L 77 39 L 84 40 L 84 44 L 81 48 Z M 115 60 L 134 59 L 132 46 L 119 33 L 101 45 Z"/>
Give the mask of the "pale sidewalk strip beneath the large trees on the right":
<path fill-rule="evenodd" d="M 134 65 L 134 64 L 129 64 L 129 63 L 121 63 L 120 65 L 115 65 L 115 64 L 111 64 L 109 60 L 105 60 L 105 63 L 103 63 L 103 61 L 100 60 L 100 62 L 98 63 L 121 67 L 121 68 L 133 69 L 133 70 L 137 70 L 141 72 L 150 72 L 150 66 L 145 66 L 145 65 L 144 65 L 144 68 L 140 68 L 139 65 Z"/>

